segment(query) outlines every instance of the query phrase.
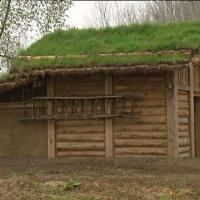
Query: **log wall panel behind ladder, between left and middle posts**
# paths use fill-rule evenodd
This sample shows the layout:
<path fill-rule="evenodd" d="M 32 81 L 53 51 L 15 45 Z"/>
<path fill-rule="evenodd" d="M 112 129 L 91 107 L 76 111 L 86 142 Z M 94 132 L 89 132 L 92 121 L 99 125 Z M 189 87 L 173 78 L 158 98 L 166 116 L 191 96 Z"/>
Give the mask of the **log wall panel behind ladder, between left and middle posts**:
<path fill-rule="evenodd" d="M 101 76 L 55 83 L 56 96 L 101 96 L 104 92 Z M 56 121 L 55 132 L 57 156 L 105 156 L 104 120 Z"/>

